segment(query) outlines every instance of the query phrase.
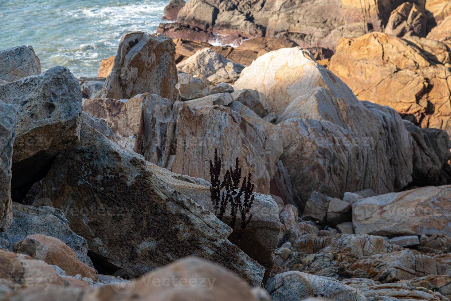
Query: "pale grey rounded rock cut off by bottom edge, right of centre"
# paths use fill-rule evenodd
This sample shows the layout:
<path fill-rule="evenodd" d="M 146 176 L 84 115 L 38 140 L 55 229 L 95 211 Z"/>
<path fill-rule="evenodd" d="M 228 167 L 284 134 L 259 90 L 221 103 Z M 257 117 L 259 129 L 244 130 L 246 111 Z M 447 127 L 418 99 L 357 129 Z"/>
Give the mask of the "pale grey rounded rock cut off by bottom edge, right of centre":
<path fill-rule="evenodd" d="M 299 271 L 277 274 L 268 280 L 265 288 L 272 292 L 273 300 L 298 301 L 309 296 L 320 296 L 337 301 L 367 300 L 359 290 L 334 278 L 315 276 Z"/>

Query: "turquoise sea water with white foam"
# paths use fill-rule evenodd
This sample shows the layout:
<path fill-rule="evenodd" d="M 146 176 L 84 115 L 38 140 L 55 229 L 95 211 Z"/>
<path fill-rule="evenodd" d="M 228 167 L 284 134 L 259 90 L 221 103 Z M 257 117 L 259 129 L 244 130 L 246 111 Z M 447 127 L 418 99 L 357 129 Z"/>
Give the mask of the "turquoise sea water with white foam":
<path fill-rule="evenodd" d="M 42 69 L 96 76 L 125 32 L 155 32 L 169 0 L 0 0 L 0 50 L 33 46 Z"/>

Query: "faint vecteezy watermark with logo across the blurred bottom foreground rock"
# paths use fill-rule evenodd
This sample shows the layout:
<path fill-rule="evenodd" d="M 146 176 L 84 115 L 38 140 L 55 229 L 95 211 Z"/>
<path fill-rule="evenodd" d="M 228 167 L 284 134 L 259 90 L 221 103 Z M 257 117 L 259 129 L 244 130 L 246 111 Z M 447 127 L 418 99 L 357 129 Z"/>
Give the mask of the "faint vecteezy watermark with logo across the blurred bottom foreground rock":
<path fill-rule="evenodd" d="M 112 288 L 118 294 L 129 294 L 133 292 L 137 284 L 144 287 L 200 287 L 207 291 L 211 291 L 215 285 L 216 278 L 209 277 L 178 277 L 176 275 L 168 275 L 166 277 L 158 277 L 152 274 L 145 275 L 141 278 L 135 279 L 133 274 L 130 274 L 124 269 L 115 272 L 113 276 L 123 278 L 120 283 L 115 284 Z"/>

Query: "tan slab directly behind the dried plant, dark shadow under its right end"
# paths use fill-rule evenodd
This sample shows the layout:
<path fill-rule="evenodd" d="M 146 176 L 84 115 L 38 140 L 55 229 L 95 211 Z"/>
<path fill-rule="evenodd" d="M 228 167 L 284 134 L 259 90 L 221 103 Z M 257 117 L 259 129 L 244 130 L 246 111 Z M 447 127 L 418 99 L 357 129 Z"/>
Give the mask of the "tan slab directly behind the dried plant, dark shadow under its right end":
<path fill-rule="evenodd" d="M 199 178 L 192 178 L 172 173 L 167 169 L 147 163 L 147 167 L 156 174 L 158 178 L 169 184 L 176 191 L 188 196 L 191 200 L 201 205 L 202 208 L 214 212 L 214 207 L 210 198 L 210 183 Z M 239 248 L 253 260 L 267 269 L 266 276 L 269 276 L 274 261 L 274 250 L 277 246 L 281 222 L 279 220 L 279 210 L 271 196 L 253 193 L 253 201 L 250 213 L 252 219 L 247 225 L 244 236 L 239 243 Z M 230 209 L 230 206 L 227 207 Z M 231 217 L 229 210 L 223 216 L 222 221 L 230 224 Z M 239 223 L 240 218 L 237 219 Z M 232 243 L 238 244 L 241 228 L 235 226 L 234 232 L 229 236 Z"/>

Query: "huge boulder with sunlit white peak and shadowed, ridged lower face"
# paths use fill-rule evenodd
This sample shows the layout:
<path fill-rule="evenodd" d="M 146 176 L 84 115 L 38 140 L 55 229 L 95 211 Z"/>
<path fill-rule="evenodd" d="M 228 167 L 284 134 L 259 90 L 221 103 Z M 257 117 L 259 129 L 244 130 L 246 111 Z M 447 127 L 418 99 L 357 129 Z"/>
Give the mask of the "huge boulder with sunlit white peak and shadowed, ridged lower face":
<path fill-rule="evenodd" d="M 262 92 L 279 116 L 281 159 L 299 206 L 314 190 L 341 197 L 411 182 L 412 145 L 402 119 L 390 108 L 359 102 L 307 51 L 285 48 L 259 57 L 235 83 L 244 88 Z"/>

